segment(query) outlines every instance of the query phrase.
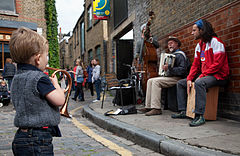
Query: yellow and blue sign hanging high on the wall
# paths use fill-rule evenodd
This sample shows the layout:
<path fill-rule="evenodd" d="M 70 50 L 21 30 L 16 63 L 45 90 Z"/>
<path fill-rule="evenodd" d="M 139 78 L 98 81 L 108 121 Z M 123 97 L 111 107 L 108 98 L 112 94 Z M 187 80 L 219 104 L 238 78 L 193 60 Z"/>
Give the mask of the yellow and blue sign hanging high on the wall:
<path fill-rule="evenodd" d="M 93 18 L 103 20 L 108 16 L 110 16 L 109 0 L 93 0 Z"/>

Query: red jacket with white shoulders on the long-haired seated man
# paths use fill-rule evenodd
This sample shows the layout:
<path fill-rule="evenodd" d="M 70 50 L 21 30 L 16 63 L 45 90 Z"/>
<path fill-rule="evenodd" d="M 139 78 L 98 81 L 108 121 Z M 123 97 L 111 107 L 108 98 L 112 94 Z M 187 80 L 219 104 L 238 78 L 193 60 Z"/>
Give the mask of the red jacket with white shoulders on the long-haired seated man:
<path fill-rule="evenodd" d="M 229 75 L 227 53 L 224 43 L 213 37 L 210 43 L 200 41 L 195 48 L 194 61 L 187 77 L 193 80 L 197 74 L 201 77 L 212 75 L 218 80 L 225 80 Z"/>

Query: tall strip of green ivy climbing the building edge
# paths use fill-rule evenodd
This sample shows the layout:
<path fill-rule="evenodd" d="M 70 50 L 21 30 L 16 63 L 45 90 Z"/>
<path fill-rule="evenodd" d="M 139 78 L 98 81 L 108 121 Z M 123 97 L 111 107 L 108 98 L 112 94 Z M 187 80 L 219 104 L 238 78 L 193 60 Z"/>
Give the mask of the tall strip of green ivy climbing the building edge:
<path fill-rule="evenodd" d="M 55 0 L 45 0 L 45 19 L 49 43 L 49 66 L 59 68 L 58 22 Z M 49 71 L 51 74 L 53 71 Z"/>

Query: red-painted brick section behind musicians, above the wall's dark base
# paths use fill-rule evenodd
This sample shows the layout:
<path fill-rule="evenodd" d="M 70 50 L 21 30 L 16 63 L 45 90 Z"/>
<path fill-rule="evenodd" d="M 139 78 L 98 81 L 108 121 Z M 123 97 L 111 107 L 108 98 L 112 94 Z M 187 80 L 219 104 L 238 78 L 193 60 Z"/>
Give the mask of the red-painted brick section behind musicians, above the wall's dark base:
<path fill-rule="evenodd" d="M 240 93 L 240 3 L 231 4 L 216 10 L 203 18 L 207 19 L 217 33 L 217 35 L 226 44 L 226 51 L 229 59 L 231 81 L 227 87 L 228 92 Z M 194 41 L 191 35 L 192 25 L 196 20 L 184 27 L 180 27 L 173 33 L 169 33 L 159 38 L 161 45 L 164 44 L 166 38 L 170 35 L 178 37 L 182 42 L 181 49 L 187 53 L 191 61 L 193 60 L 194 49 L 197 41 Z"/>

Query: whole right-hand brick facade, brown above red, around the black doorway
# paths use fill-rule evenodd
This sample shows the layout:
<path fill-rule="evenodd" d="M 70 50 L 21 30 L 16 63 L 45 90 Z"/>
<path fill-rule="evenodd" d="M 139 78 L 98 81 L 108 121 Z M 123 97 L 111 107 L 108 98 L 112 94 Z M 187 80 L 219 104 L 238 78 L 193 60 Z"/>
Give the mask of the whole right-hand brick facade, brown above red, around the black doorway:
<path fill-rule="evenodd" d="M 114 25 L 114 3 L 111 3 L 109 21 L 108 61 L 111 62 L 109 72 L 116 72 L 118 65 L 116 44 L 129 29 L 134 30 L 134 45 L 140 37 L 140 26 L 148 20 L 148 12 L 154 11 L 156 18 L 151 25 L 151 32 L 160 43 L 159 51 L 166 50 L 165 41 L 168 36 L 176 36 L 182 42 L 182 50 L 193 61 L 194 48 L 197 41 L 191 35 L 192 25 L 200 18 L 210 21 L 225 42 L 229 58 L 230 79 L 228 86 L 221 88 L 218 115 L 240 120 L 240 2 L 237 0 L 128 0 L 127 17 L 119 25 Z M 124 0 L 125 1 L 125 0 Z M 123 3 L 123 1 L 121 1 Z M 133 54 L 133 51 L 130 53 Z"/>

